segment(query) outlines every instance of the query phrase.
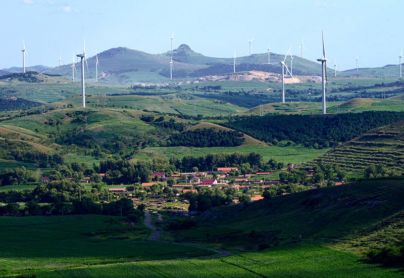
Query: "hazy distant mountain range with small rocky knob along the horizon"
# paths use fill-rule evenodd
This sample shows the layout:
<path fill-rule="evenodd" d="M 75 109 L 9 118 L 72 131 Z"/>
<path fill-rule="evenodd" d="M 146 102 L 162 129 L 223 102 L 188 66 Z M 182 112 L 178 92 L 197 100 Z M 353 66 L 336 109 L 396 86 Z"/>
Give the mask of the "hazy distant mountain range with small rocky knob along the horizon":
<path fill-rule="evenodd" d="M 173 80 L 170 79 L 170 61 L 173 59 Z M 284 55 L 271 53 L 270 62 L 283 61 Z M 196 79 L 209 75 L 233 73 L 233 58 L 214 58 L 196 53 L 186 44 L 179 48 L 162 54 L 148 54 L 128 48 L 113 48 L 98 54 L 99 68 L 98 81 L 118 83 L 154 83 L 165 84 L 178 81 Z M 87 59 L 88 72 L 86 81 L 95 81 L 95 56 Z M 292 67 L 290 56 L 286 58 L 288 68 L 293 75 L 321 75 L 321 65 L 304 58 L 294 56 Z M 268 53 L 252 54 L 236 58 L 236 72 L 258 70 L 264 72 L 281 73 L 280 64 L 268 64 Z M 80 62 L 76 65 L 78 74 L 76 81 L 80 80 Z M 47 74 L 60 74 L 72 78 L 71 64 L 51 68 L 43 65 L 26 68 Z M 0 71 L 0 75 L 10 72 L 21 72 L 22 68 L 12 67 Z M 334 75 L 334 69 L 328 69 L 329 76 Z M 380 68 L 360 68 L 338 72 L 338 76 L 364 76 L 364 77 L 398 77 L 398 65 L 386 65 Z"/>

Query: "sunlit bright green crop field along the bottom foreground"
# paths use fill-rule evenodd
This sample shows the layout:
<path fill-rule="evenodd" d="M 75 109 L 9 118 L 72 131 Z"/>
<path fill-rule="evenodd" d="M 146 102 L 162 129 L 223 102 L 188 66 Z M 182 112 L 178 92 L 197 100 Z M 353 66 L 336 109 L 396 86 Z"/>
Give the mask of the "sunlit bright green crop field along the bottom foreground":
<path fill-rule="evenodd" d="M 297 244 L 204 260 L 141 261 L 36 272 L 53 277 L 402 277 L 398 269 L 365 264 L 355 255 L 319 245 Z"/>

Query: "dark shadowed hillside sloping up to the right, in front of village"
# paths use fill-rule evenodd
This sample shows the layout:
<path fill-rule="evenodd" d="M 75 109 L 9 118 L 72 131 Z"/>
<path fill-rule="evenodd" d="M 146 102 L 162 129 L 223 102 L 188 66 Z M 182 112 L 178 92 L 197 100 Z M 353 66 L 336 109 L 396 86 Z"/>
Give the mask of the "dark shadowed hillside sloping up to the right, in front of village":
<path fill-rule="evenodd" d="M 364 251 L 404 237 L 404 180 L 370 179 L 211 209 L 196 230 L 167 235 L 233 250 L 300 240 Z M 290 247 L 290 246 L 289 246 Z"/>

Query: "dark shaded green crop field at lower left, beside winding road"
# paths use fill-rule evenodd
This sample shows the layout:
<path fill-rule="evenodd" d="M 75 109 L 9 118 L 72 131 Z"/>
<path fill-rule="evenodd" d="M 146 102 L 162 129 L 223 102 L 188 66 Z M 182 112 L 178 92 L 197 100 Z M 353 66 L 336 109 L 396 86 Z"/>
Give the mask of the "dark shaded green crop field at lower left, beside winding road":
<path fill-rule="evenodd" d="M 145 241 L 149 228 L 122 221 L 101 215 L 1 217 L 0 275 L 216 254 Z"/>

